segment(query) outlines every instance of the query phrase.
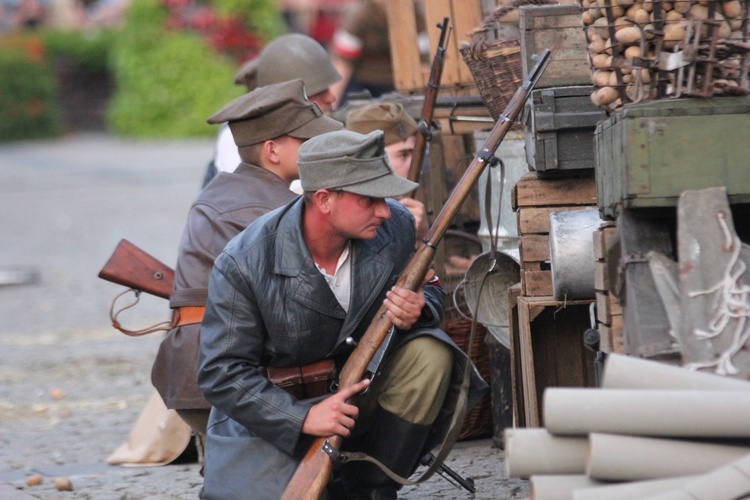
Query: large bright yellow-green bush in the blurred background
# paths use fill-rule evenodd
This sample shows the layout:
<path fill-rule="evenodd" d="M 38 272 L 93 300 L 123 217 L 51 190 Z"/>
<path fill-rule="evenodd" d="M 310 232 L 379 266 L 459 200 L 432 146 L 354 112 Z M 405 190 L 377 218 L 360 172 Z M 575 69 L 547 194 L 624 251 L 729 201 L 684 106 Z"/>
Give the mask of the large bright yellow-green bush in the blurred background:
<path fill-rule="evenodd" d="M 236 63 L 198 35 L 166 32 L 156 0 L 134 0 L 113 52 L 115 95 L 110 129 L 131 137 L 211 136 L 206 118 L 242 94 Z"/>

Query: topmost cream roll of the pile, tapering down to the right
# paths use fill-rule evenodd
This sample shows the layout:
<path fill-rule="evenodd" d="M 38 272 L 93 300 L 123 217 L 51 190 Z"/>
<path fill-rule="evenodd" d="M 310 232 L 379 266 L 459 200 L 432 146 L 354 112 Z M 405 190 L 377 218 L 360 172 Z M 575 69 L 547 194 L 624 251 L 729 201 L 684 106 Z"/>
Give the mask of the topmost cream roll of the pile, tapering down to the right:
<path fill-rule="evenodd" d="M 750 391 L 750 382 L 696 372 L 635 356 L 610 353 L 604 363 L 603 389 L 694 389 Z"/>

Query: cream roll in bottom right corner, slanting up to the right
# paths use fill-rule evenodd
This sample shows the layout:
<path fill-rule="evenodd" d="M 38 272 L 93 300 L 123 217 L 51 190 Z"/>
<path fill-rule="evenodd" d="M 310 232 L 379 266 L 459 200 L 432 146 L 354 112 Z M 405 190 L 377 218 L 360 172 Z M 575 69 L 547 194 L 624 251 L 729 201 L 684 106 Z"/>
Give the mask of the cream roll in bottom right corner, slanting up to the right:
<path fill-rule="evenodd" d="M 750 455 L 708 474 L 691 478 L 675 490 L 648 500 L 735 500 L 750 496 Z"/>

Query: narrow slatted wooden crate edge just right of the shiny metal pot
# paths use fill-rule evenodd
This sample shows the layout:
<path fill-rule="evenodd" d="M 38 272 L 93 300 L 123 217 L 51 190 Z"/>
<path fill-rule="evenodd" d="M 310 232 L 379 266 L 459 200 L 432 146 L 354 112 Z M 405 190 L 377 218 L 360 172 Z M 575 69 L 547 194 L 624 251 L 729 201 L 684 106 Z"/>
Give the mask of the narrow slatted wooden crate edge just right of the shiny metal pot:
<path fill-rule="evenodd" d="M 609 287 L 607 243 L 617 232 L 613 222 L 605 222 L 594 231 L 594 290 L 596 290 L 596 329 L 602 352 L 625 354 L 622 306 Z"/>

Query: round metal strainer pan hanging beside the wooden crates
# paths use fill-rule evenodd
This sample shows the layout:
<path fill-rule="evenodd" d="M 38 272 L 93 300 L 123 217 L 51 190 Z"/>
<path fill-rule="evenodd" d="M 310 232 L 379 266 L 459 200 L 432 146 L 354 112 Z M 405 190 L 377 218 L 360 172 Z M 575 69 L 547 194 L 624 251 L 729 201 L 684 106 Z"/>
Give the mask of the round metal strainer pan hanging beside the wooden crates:
<path fill-rule="evenodd" d="M 453 302 L 466 319 L 472 319 L 476 312 L 477 322 L 510 348 L 508 288 L 520 280 L 521 267 L 515 260 L 501 252 L 495 252 L 493 259 L 491 253 L 486 252 L 477 256 L 469 266 L 463 281 L 453 292 Z M 463 305 L 459 304 L 458 298 L 461 290 Z"/>

